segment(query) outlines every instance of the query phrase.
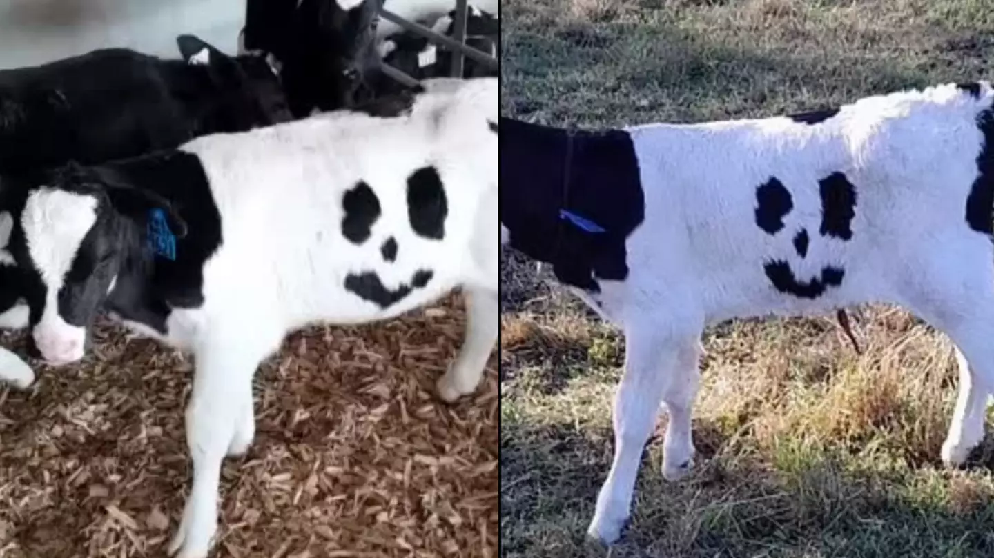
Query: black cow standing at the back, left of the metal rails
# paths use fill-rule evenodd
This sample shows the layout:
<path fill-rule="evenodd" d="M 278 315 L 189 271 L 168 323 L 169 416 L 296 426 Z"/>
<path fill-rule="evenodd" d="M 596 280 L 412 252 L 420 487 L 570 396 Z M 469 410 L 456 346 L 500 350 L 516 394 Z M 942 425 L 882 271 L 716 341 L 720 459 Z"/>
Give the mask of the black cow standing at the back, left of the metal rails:
<path fill-rule="evenodd" d="M 276 61 L 290 110 L 351 107 L 375 94 L 380 0 L 247 0 L 241 53 Z"/>

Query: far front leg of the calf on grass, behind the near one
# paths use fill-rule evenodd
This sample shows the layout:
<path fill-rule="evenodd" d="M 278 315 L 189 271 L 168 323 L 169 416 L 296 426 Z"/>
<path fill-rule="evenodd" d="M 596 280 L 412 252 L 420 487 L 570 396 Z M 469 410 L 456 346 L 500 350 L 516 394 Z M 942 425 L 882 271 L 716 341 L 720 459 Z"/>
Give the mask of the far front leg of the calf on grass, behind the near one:
<path fill-rule="evenodd" d="M 673 379 L 663 391 L 663 402 L 670 419 L 663 443 L 663 478 L 667 481 L 683 479 L 694 467 L 691 415 L 701 378 L 701 352 L 700 343 L 680 348 Z"/>

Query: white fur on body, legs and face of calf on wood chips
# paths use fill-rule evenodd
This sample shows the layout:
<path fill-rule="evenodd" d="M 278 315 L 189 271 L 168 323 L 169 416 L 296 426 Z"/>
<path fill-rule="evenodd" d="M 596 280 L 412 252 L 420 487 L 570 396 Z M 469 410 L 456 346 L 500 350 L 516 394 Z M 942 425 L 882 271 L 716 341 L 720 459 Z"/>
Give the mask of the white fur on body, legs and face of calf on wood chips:
<path fill-rule="evenodd" d="M 466 340 L 437 389 L 454 400 L 478 385 L 498 335 L 497 136 L 487 126 L 497 120 L 497 80 L 440 89 L 419 96 L 409 117 L 324 113 L 182 148 L 204 165 L 225 241 L 204 268 L 204 305 L 174 311 L 162 338 L 193 351 L 197 362 L 186 415 L 193 486 L 170 552 L 207 555 L 222 460 L 244 452 L 254 433 L 252 374 L 287 332 L 394 318 L 461 286 Z M 442 240 L 414 234 L 409 222 L 407 179 L 427 165 L 445 186 Z M 376 192 L 382 213 L 371 237 L 355 245 L 341 232 L 342 196 L 359 180 Z M 31 255 L 46 283 L 60 285 L 92 207 L 45 190 L 29 204 Z M 400 247 L 393 263 L 380 253 L 390 236 Z M 343 288 L 349 272 L 375 270 L 394 288 L 419 269 L 433 272 L 427 286 L 386 311 Z M 53 302 L 39 327 L 51 327 Z"/>

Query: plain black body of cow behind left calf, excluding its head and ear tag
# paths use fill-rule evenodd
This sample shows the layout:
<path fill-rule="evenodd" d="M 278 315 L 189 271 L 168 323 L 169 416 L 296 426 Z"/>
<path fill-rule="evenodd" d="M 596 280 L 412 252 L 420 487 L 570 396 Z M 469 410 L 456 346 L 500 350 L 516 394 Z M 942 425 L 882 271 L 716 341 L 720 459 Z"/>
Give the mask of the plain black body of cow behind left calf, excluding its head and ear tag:
<path fill-rule="evenodd" d="M 176 145 L 193 135 L 163 61 L 106 49 L 0 70 L 0 172 L 83 164 Z"/>

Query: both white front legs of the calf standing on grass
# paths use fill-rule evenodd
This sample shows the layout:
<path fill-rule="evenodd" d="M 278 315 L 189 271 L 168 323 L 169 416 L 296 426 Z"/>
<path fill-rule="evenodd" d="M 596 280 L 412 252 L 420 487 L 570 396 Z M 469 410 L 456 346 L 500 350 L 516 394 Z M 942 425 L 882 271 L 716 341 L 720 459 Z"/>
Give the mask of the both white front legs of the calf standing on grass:
<path fill-rule="evenodd" d="M 597 494 L 593 519 L 587 536 L 610 544 L 621 535 L 628 519 L 632 490 L 638 475 L 642 449 L 652 434 L 655 419 L 664 394 L 676 409 L 675 425 L 667 433 L 666 459 L 678 461 L 679 466 L 689 460 L 690 408 L 687 393 L 674 382 L 686 381 L 680 370 L 681 354 L 695 353 L 703 324 L 699 321 L 674 320 L 670 324 L 640 324 L 625 331 L 624 374 L 614 398 L 614 459 L 610 472 Z M 695 358 L 696 359 L 696 358 Z M 686 428 L 686 431 L 683 429 Z"/>

